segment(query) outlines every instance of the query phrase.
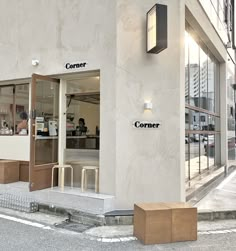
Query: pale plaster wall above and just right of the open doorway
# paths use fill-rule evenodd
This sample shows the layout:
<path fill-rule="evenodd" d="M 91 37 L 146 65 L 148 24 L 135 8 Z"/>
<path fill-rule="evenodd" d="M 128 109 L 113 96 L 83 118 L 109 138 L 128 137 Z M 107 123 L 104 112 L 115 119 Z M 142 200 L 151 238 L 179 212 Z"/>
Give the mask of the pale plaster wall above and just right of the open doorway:
<path fill-rule="evenodd" d="M 67 62 L 86 61 L 84 71 L 100 70 L 100 92 L 105 97 L 100 106 L 100 190 L 114 194 L 116 1 L 3 0 L 0 29 L 0 81 L 32 73 L 82 71 L 66 70 Z M 39 60 L 37 67 L 32 66 L 32 59 Z"/>

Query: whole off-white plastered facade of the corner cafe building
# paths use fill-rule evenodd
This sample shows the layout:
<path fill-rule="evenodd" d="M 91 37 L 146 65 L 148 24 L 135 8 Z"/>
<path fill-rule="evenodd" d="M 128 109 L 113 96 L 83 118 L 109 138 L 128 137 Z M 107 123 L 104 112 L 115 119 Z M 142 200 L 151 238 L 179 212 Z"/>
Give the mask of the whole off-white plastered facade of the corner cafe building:
<path fill-rule="evenodd" d="M 226 26 L 223 35 L 217 31 L 204 2 L 208 1 L 158 1 L 167 5 L 168 47 L 159 54 L 147 54 L 146 13 L 156 1 L 2 0 L 0 114 L 2 129 L 6 129 L 7 123 L 12 132 L 9 128 L 7 135 L 4 132 L 0 135 L 0 159 L 28 163 L 30 187 L 36 190 L 48 187 L 52 167 L 48 166 L 48 171 L 41 176 L 35 172 L 37 165 L 64 163 L 67 156 L 74 154 L 80 159 L 78 156 L 88 154 L 86 156 L 99 160 L 99 191 L 114 195 L 116 209 L 130 209 L 137 202 L 185 201 L 185 181 L 197 175 L 191 176 L 191 159 L 204 162 L 198 173 L 211 166 L 227 166 L 228 137 L 235 135 L 234 130 L 229 135 L 226 112 L 230 103 L 235 117 L 234 99 L 228 101 L 226 84 L 231 81 L 228 92 L 232 92 L 234 51 L 226 48 Z M 223 4 L 223 1 L 217 2 L 219 6 Z M 192 45 L 187 45 L 186 36 L 196 42 L 199 53 L 205 53 L 203 59 L 197 56 L 197 62 L 191 62 L 191 48 L 188 47 L 188 55 L 186 48 Z M 209 60 L 214 69 L 210 69 Z M 194 68 L 193 64 L 199 68 L 195 84 L 186 80 L 186 76 L 193 78 L 193 72 L 186 73 L 186 68 Z M 213 73 L 214 94 L 210 89 Z M 32 74 L 37 75 L 32 79 Z M 201 74 L 205 75 L 201 78 Z M 41 76 L 58 83 L 50 84 L 52 79 Z M 41 85 L 40 81 L 45 83 Z M 46 91 L 42 91 L 46 82 Z M 4 88 L 12 90 L 8 92 Z M 26 96 L 24 90 L 28 93 Z M 9 95 L 12 101 L 7 99 Z M 81 105 L 77 109 L 74 97 L 81 102 L 84 95 L 90 95 L 90 104 L 91 99 L 99 95 L 99 107 Z M 212 95 L 213 108 L 200 105 L 209 103 Z M 37 101 L 39 96 L 41 99 Z M 194 97 L 198 102 L 194 103 Z M 144 110 L 145 101 L 151 101 L 151 110 Z M 53 119 L 47 120 L 46 117 L 51 116 L 49 107 L 53 110 Z M 16 131 L 23 110 L 29 114 L 27 135 Z M 92 150 L 68 147 L 69 137 L 76 136 L 68 134 L 69 113 L 76 120 L 85 117 L 89 136 L 98 136 L 99 129 L 99 147 Z M 195 124 L 191 124 L 190 113 L 198 116 Z M 44 136 L 35 133 L 36 117 L 44 117 L 44 126 L 46 122 L 57 121 L 54 135 L 57 139 L 53 138 L 53 144 L 40 145 L 42 140 L 37 136 Z M 135 121 L 160 126 L 135 128 Z M 213 129 L 209 129 L 209 124 L 214 124 Z M 194 125 L 197 126 L 194 128 Z M 52 137 L 47 129 L 42 129 L 45 137 Z M 191 139 L 193 134 L 199 139 L 207 137 L 208 146 L 209 138 L 214 136 L 214 161 L 201 152 L 201 140 L 198 152 L 196 141 L 194 146 L 184 143 L 184 137 Z M 41 140 L 40 144 L 37 140 Z M 37 147 L 41 150 L 36 150 Z M 42 149 L 47 147 L 56 147 L 50 160 L 43 159 L 46 155 Z M 37 151 L 44 157 L 38 157 Z M 207 160 L 205 157 L 202 160 L 202 156 L 208 156 Z M 36 163 L 37 158 L 41 162 Z M 45 179 L 47 182 L 43 182 Z M 41 186 L 35 185 L 36 182 L 41 182 Z"/>

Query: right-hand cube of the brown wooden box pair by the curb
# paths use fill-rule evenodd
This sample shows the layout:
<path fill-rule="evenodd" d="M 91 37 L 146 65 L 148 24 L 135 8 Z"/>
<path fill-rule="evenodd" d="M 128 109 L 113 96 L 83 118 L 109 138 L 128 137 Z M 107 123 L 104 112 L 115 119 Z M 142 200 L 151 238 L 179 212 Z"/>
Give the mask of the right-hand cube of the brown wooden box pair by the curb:
<path fill-rule="evenodd" d="M 188 203 L 166 203 L 172 212 L 171 241 L 197 240 L 197 208 Z"/>

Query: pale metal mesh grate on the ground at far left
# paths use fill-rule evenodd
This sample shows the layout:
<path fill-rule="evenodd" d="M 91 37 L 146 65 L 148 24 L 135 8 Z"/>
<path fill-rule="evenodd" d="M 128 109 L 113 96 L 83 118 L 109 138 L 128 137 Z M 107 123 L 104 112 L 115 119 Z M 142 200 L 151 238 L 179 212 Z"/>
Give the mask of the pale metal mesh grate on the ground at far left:
<path fill-rule="evenodd" d="M 34 199 L 10 193 L 0 194 L 0 207 L 10 208 L 28 213 L 38 211 L 38 203 L 34 201 Z"/>

